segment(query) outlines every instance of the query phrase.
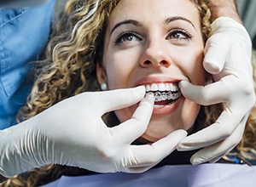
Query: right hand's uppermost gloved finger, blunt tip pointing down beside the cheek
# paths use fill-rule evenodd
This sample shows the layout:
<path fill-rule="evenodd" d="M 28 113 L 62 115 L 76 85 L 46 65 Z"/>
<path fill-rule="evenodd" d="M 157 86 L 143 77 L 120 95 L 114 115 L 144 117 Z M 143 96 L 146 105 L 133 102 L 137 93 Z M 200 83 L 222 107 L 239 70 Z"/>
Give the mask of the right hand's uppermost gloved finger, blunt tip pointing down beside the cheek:
<path fill-rule="evenodd" d="M 209 37 L 203 60 L 205 70 L 211 74 L 217 74 L 222 71 L 229 51 L 230 41 L 223 34 L 216 33 L 212 37 Z"/>

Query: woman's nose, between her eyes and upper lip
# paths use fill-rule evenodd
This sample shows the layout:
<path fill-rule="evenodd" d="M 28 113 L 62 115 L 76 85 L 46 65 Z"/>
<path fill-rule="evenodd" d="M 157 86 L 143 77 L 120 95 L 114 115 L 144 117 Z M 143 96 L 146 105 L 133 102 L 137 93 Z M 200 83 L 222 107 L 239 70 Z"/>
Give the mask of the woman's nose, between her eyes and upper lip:
<path fill-rule="evenodd" d="M 167 48 L 160 42 L 148 42 L 148 46 L 144 49 L 143 55 L 140 59 L 140 65 L 143 67 L 153 66 L 169 67 L 171 65 L 170 55 L 167 53 Z"/>

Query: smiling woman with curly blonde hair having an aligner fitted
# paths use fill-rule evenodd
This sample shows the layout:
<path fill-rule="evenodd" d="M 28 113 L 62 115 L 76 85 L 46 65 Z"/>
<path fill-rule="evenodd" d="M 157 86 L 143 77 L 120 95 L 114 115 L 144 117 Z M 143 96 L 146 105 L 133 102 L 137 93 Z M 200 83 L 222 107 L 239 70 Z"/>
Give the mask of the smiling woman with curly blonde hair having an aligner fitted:
<path fill-rule="evenodd" d="M 197 85 L 211 81 L 202 67 L 204 43 L 210 36 L 209 20 L 204 1 L 69 2 L 20 116 L 30 118 L 74 94 L 99 90 L 100 84 L 102 89 L 104 85 L 108 89 L 144 85 L 154 93 L 154 112 L 148 129 L 134 144 L 154 142 L 180 128 L 195 133 L 215 122 L 221 105 L 197 105 L 180 94 L 177 84 L 181 80 Z M 115 111 L 105 119 L 109 124 L 124 122 L 136 107 Z M 255 137 L 251 133 L 254 128 L 253 121 L 249 121 L 237 147 L 244 156 L 247 148 L 255 144 L 250 142 Z M 159 166 L 189 163 L 193 153 L 175 151 Z M 44 175 L 53 170 L 49 174 L 52 179 L 67 174 L 65 167 L 50 165 L 32 171 L 25 183 L 33 185 L 41 177 L 44 180 Z M 20 176 L 17 179 L 22 185 Z M 17 186 L 15 179 L 11 182 Z"/>

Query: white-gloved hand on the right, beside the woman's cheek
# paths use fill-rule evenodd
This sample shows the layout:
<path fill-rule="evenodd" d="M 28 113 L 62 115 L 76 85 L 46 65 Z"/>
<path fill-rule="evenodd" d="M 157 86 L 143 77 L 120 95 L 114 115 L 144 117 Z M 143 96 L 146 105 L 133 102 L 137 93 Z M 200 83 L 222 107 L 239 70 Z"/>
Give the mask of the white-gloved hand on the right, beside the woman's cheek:
<path fill-rule="evenodd" d="M 223 103 L 224 111 L 210 127 L 192 134 L 177 145 L 177 150 L 206 147 L 191 157 L 192 164 L 218 161 L 241 140 L 247 117 L 255 104 L 251 64 L 252 44 L 244 26 L 221 17 L 212 23 L 207 41 L 205 69 L 214 82 L 194 86 L 180 82 L 184 97 L 201 105 Z"/>

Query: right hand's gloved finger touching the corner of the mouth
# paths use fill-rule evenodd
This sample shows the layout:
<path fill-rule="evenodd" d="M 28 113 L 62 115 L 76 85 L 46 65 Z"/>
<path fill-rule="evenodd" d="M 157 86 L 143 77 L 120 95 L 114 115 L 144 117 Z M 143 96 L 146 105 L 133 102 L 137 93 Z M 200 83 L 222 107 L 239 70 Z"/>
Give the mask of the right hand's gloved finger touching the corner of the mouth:
<path fill-rule="evenodd" d="M 183 96 L 200 105 L 214 105 L 224 103 L 233 94 L 230 82 L 235 82 L 236 77 L 227 76 L 218 82 L 213 82 L 207 86 L 196 86 L 190 82 L 182 81 L 178 83 Z M 229 82 L 228 85 L 226 82 Z"/>

